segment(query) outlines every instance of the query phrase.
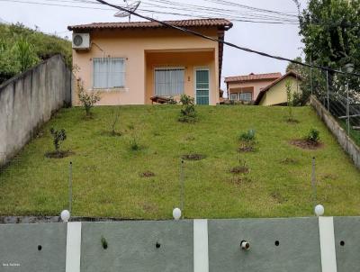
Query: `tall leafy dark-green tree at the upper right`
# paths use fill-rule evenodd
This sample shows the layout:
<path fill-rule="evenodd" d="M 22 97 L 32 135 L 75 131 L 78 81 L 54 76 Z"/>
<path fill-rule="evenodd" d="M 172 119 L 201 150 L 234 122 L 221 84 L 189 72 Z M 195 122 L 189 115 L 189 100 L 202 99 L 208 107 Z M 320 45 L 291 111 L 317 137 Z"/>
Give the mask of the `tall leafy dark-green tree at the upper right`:
<path fill-rule="evenodd" d="M 344 70 L 352 63 L 360 71 L 360 0 L 310 0 L 300 16 L 300 34 L 306 62 Z M 330 74 L 345 86 L 346 77 Z M 350 84 L 359 86 L 360 79 L 351 77 Z"/>

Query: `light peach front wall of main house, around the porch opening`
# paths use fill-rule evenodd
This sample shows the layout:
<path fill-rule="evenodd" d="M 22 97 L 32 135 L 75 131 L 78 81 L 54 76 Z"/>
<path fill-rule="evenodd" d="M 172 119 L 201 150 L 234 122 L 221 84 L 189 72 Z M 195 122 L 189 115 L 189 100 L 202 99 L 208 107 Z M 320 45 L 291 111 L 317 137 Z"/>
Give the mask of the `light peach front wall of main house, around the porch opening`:
<path fill-rule="evenodd" d="M 216 28 L 199 28 L 208 36 L 217 37 Z M 218 56 L 219 45 L 215 41 L 207 41 L 183 32 L 168 29 L 136 29 L 136 30 L 102 30 L 90 33 L 92 46 L 90 50 L 74 50 L 73 63 L 79 68 L 76 74 L 84 82 L 85 89 L 93 90 L 93 59 L 102 57 L 125 58 L 125 88 L 102 90 L 103 104 L 148 104 L 147 82 L 147 52 L 181 52 L 181 51 L 209 51 Z M 191 62 L 187 54 L 183 55 L 184 62 Z M 202 59 L 202 57 L 199 57 Z M 167 59 L 169 60 L 169 59 Z M 213 60 L 211 66 L 218 69 L 218 61 Z M 208 63 L 210 64 L 210 63 Z M 199 63 L 202 66 L 202 63 Z M 193 63 L 193 66 L 197 64 Z M 216 71 L 211 78 L 219 78 Z M 216 79 L 218 80 L 218 79 Z M 214 87 L 219 90 L 219 82 Z M 187 90 L 188 91 L 188 90 Z M 219 98 L 218 98 L 219 99 Z M 76 94 L 73 96 L 74 104 L 78 104 Z M 213 104 L 216 102 L 212 101 Z"/>

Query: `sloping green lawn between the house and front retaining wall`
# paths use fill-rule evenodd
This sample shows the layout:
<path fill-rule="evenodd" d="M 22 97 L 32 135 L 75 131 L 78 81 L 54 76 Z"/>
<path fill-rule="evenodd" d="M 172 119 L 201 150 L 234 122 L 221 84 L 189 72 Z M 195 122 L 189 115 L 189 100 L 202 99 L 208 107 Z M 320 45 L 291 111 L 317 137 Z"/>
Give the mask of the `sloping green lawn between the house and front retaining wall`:
<path fill-rule="evenodd" d="M 326 215 L 360 215 L 360 171 L 310 107 L 295 108 L 300 122 L 284 121 L 287 109 L 259 106 L 200 106 L 199 122 L 177 122 L 180 107 L 121 106 L 117 131 L 109 135 L 119 107 L 63 109 L 0 174 L 1 215 L 57 215 L 67 208 L 68 163 L 73 162 L 73 215 L 168 219 L 180 203 L 180 157 L 184 163 L 186 218 L 288 217 L 312 214 L 311 158 L 317 159 L 317 203 Z M 129 127 L 133 125 L 133 131 Z M 47 159 L 49 128 L 64 128 L 62 149 L 74 154 Z M 314 127 L 323 147 L 289 144 Z M 238 135 L 257 131 L 257 151 L 238 153 Z M 136 131 L 136 132 L 134 132 Z M 136 134 L 140 150 L 131 150 Z M 241 156 L 250 169 L 234 175 Z M 155 177 L 141 177 L 146 171 Z"/>

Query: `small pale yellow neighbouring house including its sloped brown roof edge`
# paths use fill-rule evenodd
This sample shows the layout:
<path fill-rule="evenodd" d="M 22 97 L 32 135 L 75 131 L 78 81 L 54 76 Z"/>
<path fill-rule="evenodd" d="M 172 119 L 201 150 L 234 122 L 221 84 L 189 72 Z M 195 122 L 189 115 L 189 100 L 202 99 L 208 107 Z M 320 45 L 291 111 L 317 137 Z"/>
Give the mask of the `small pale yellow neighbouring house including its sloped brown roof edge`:
<path fill-rule="evenodd" d="M 290 71 L 283 77 L 275 80 L 269 86 L 266 86 L 257 96 L 255 104 L 258 105 L 283 105 L 287 104 L 287 84 L 290 84 L 292 94 L 300 93 L 302 77 Z"/>

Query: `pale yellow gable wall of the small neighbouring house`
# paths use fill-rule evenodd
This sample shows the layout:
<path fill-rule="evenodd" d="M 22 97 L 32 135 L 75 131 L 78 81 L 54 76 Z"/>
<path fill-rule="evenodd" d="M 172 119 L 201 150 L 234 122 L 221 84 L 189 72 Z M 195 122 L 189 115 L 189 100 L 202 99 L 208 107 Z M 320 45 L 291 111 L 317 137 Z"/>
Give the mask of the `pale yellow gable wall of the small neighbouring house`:
<path fill-rule="evenodd" d="M 294 77 L 286 77 L 284 80 L 272 86 L 261 99 L 259 105 L 275 105 L 287 103 L 286 82 L 292 83 L 292 93 L 301 92 L 300 82 Z"/>

